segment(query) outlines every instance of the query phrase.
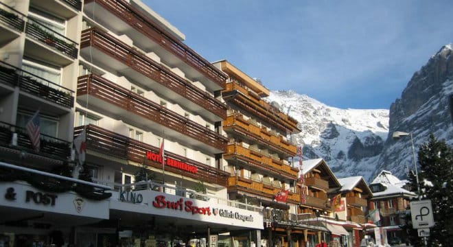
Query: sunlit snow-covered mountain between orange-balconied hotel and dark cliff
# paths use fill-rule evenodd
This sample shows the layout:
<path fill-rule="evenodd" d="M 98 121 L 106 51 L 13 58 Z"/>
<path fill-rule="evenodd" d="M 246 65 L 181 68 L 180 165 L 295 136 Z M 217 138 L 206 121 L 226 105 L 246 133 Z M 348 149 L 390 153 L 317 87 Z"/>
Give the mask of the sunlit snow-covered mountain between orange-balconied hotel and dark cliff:
<path fill-rule="evenodd" d="M 303 159 L 324 158 L 338 178 L 374 173 L 388 134 L 388 110 L 334 108 L 294 91 L 272 91 L 266 100 L 299 121 L 301 132 L 291 139 L 303 145 Z"/>

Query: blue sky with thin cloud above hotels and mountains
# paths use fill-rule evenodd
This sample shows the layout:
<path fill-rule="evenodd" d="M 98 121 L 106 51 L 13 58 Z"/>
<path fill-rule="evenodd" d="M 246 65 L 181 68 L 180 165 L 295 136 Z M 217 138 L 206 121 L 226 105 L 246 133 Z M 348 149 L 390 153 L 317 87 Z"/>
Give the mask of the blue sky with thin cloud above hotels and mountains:
<path fill-rule="evenodd" d="M 143 0 L 207 60 L 338 108 L 390 108 L 453 43 L 453 1 Z"/>

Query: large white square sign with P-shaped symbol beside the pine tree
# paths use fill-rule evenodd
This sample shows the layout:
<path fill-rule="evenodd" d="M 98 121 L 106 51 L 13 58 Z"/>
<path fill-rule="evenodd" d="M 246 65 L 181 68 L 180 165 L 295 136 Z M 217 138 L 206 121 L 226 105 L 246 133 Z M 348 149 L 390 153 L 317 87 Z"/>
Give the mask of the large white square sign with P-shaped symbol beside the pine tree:
<path fill-rule="evenodd" d="M 412 217 L 412 226 L 415 229 L 434 226 L 431 200 L 410 202 L 410 215 Z"/>

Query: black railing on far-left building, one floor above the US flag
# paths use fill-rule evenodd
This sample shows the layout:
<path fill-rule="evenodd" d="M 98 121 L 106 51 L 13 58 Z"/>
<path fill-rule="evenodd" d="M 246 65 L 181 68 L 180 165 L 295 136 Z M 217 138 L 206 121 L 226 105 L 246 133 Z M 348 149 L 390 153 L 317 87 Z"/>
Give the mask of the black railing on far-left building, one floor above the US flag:
<path fill-rule="evenodd" d="M 73 91 L 71 89 L 1 61 L 0 82 L 10 86 L 19 86 L 21 91 L 31 93 L 67 108 L 71 108 L 74 105 Z"/>

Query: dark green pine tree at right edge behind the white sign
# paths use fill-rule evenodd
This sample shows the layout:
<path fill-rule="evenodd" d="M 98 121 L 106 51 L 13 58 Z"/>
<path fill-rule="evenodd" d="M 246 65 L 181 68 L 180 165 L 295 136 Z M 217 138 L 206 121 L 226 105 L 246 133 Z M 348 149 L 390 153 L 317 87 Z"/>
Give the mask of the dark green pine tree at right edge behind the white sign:
<path fill-rule="evenodd" d="M 418 160 L 421 197 L 431 200 L 435 223 L 428 246 L 449 246 L 453 243 L 453 148 L 430 134 L 428 143 L 419 149 Z"/>

